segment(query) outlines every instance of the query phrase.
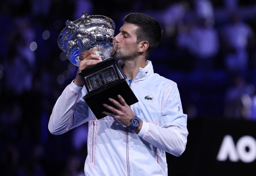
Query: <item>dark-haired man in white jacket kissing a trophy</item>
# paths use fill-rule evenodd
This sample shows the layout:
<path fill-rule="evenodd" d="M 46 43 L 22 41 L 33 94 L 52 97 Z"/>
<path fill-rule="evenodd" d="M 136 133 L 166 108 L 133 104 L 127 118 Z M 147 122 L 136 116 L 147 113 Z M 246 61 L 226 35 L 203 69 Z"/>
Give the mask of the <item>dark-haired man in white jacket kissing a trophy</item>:
<path fill-rule="evenodd" d="M 128 106 L 121 96 L 120 103 L 110 97 L 115 106 L 102 106 L 113 113 L 102 112 L 108 116 L 98 120 L 83 99 L 86 89 L 77 75 L 57 100 L 49 131 L 62 134 L 88 121 L 86 176 L 167 176 L 165 151 L 180 156 L 185 150 L 187 115 L 176 83 L 154 74 L 147 60 L 161 41 L 159 23 L 142 13 L 131 13 L 124 22 L 115 36 L 113 58 L 122 65 L 139 102 Z M 89 55 L 80 62 L 78 73 L 100 61 Z"/>

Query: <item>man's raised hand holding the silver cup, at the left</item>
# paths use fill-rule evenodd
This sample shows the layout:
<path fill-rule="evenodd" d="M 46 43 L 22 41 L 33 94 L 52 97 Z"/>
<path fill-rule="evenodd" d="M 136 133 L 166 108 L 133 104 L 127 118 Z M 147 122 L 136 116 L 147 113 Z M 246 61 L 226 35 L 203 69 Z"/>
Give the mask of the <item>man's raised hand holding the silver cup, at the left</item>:
<path fill-rule="evenodd" d="M 88 50 L 88 53 L 91 53 L 90 50 Z M 95 54 L 90 54 L 88 56 L 86 56 L 86 58 L 83 58 L 83 60 L 80 61 L 78 70 L 77 70 L 77 74 L 74 80 L 74 83 L 77 86 L 83 87 L 83 81 L 82 79 L 79 77 L 79 73 L 81 73 L 81 70 L 91 66 L 91 65 L 95 65 L 98 62 L 101 62 L 101 58 L 98 55 Z"/>

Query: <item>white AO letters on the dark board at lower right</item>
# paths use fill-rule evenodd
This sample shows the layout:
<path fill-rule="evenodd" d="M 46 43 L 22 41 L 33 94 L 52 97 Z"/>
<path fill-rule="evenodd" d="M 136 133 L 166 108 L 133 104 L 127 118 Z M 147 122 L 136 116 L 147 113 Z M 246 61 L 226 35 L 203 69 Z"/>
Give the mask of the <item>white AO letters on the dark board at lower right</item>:
<path fill-rule="evenodd" d="M 225 135 L 217 155 L 218 161 L 238 162 L 239 159 L 244 163 L 251 163 L 256 159 L 256 140 L 245 135 L 234 144 L 231 135 Z"/>

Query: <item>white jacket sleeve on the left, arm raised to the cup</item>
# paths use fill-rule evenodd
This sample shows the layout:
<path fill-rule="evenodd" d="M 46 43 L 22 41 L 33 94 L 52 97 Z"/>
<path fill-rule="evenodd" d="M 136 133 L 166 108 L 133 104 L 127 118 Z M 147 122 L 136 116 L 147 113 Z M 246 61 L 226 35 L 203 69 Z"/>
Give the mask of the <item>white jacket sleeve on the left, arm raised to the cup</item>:
<path fill-rule="evenodd" d="M 88 121 L 88 105 L 82 89 L 72 81 L 62 92 L 49 119 L 48 129 L 52 134 L 63 134 Z"/>

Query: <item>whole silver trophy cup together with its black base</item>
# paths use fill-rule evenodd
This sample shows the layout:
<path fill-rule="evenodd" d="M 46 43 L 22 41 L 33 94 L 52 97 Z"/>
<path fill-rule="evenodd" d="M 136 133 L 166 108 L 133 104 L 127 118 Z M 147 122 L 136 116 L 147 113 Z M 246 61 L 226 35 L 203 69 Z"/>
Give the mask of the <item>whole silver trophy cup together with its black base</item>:
<path fill-rule="evenodd" d="M 96 54 L 102 59 L 79 74 L 88 92 L 84 99 L 95 116 L 98 119 L 106 116 L 101 112 L 109 110 L 102 104 L 109 103 L 110 97 L 118 101 L 117 95 L 121 95 L 128 105 L 138 102 L 122 68 L 112 58 L 116 43 L 114 21 L 101 15 L 88 16 L 84 12 L 80 19 L 67 20 L 66 26 L 59 35 L 58 46 L 67 52 L 71 63 L 79 66 L 89 54 Z"/>

